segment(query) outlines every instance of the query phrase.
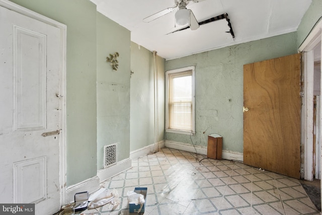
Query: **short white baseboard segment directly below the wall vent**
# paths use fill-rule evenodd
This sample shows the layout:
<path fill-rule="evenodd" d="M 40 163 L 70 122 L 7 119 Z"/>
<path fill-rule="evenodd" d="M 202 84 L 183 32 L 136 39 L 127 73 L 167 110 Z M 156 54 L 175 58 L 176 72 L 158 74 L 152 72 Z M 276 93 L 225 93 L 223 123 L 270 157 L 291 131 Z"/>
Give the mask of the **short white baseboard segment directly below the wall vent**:
<path fill-rule="evenodd" d="M 132 167 L 132 160 L 130 158 L 125 159 L 123 161 L 117 162 L 113 166 L 100 169 L 97 171 L 97 176 L 100 179 L 100 182 L 105 181 L 125 170 L 128 170 Z"/>

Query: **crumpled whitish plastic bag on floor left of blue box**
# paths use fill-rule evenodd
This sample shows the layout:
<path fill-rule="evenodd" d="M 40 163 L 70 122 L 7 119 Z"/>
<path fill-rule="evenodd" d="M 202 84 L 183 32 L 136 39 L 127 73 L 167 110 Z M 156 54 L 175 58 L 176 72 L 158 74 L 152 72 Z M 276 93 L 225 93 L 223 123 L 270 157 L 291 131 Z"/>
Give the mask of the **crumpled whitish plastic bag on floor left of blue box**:
<path fill-rule="evenodd" d="M 113 208 L 120 203 L 119 194 L 116 189 L 113 189 L 112 192 L 109 190 L 104 190 L 101 194 L 99 194 L 93 201 L 90 201 L 87 205 L 88 208 L 96 208 L 103 206 L 107 203 L 111 203 L 111 206 L 113 205 Z"/>

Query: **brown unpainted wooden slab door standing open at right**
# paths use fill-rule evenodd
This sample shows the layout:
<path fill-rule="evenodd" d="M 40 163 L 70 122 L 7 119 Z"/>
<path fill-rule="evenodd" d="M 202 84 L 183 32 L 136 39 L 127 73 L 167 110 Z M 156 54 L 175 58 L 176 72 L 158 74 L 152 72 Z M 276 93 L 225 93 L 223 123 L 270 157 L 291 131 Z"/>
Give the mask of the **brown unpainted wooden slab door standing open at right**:
<path fill-rule="evenodd" d="M 300 54 L 244 65 L 244 163 L 300 177 Z"/>

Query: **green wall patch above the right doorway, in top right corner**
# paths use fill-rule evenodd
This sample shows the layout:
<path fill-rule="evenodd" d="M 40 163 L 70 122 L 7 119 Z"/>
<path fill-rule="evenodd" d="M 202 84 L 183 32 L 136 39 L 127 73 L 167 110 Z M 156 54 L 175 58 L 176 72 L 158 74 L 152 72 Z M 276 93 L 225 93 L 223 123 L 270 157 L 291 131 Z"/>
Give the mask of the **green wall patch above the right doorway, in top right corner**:
<path fill-rule="evenodd" d="M 322 17 L 322 1 L 312 0 L 297 28 L 297 47 L 305 40 L 317 21 Z"/>

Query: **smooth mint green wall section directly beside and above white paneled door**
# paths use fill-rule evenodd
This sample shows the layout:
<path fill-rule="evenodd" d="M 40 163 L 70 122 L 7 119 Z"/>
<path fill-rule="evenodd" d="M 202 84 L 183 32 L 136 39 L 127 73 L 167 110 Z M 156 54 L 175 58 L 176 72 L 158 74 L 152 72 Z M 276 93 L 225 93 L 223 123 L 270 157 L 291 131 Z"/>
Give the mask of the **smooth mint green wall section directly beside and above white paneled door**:
<path fill-rule="evenodd" d="M 88 0 L 12 2 L 67 26 L 66 186 L 92 178 L 97 175 L 96 5 Z"/>

